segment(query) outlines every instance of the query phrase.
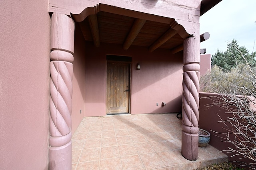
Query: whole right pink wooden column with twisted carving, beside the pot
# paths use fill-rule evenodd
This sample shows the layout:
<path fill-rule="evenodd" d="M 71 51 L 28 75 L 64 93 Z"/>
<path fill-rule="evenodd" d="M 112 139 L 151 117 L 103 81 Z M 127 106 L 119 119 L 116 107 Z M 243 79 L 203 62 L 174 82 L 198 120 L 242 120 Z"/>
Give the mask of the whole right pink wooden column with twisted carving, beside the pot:
<path fill-rule="evenodd" d="M 200 38 L 184 40 L 182 94 L 182 155 L 198 159 Z"/>

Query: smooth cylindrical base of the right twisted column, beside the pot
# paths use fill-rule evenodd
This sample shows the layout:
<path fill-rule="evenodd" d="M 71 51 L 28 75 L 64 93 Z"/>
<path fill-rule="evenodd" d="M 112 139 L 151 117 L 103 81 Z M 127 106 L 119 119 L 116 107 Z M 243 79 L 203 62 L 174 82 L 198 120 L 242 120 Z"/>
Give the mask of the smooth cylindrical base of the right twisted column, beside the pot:
<path fill-rule="evenodd" d="M 181 153 L 188 160 L 198 160 L 198 133 L 190 134 L 182 131 Z"/>

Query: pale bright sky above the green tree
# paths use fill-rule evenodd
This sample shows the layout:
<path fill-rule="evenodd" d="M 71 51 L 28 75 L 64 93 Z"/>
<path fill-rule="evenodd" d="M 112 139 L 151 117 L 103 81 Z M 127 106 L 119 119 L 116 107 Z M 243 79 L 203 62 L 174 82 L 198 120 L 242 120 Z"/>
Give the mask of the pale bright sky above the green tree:
<path fill-rule="evenodd" d="M 210 38 L 200 44 L 207 54 L 225 52 L 233 39 L 240 47 L 256 51 L 256 0 L 222 0 L 200 17 L 200 34 Z M 255 47 L 254 47 L 255 43 Z"/>

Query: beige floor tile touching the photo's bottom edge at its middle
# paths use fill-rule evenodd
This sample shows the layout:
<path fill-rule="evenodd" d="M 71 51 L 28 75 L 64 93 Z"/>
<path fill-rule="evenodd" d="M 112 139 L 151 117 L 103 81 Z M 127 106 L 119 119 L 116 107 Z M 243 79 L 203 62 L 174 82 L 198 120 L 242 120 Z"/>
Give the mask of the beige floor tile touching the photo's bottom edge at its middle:
<path fill-rule="evenodd" d="M 145 167 L 140 160 L 140 156 L 125 156 L 121 158 L 123 170 L 144 170 Z"/>

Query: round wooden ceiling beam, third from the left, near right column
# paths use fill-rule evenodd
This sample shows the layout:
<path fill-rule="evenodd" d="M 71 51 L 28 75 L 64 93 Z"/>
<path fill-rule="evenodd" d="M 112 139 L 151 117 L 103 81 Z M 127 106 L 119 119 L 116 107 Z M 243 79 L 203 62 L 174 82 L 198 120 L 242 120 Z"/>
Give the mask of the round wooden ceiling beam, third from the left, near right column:
<path fill-rule="evenodd" d="M 160 47 L 162 44 L 164 44 L 166 41 L 168 41 L 171 37 L 173 37 L 176 33 L 178 33 L 178 31 L 176 31 L 175 29 L 172 29 L 172 28 L 168 29 L 168 31 L 166 31 L 164 35 L 159 37 L 152 45 L 150 45 L 149 51 L 150 52 L 154 51 L 155 49 Z"/>

